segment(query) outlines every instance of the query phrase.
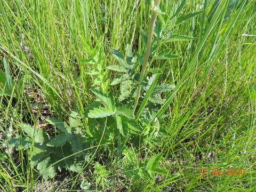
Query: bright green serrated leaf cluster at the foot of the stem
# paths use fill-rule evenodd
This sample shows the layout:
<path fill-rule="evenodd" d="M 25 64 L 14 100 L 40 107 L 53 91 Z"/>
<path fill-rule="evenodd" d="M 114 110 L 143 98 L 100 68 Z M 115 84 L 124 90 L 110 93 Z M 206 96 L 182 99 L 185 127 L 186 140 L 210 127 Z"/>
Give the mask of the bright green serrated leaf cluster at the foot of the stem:
<path fill-rule="evenodd" d="M 105 141 L 115 142 L 117 140 L 117 158 L 120 159 L 122 146 L 125 145 L 125 143 L 122 143 L 122 140 L 126 141 L 131 133 L 137 132 L 139 134 L 141 131 L 139 125 L 134 121 L 131 109 L 121 106 L 111 95 L 106 95 L 95 89 L 92 89 L 92 92 L 104 107 L 92 103 L 87 108 L 89 126 L 91 130 L 94 130 L 94 134 L 104 135 Z M 100 121 L 97 120 L 98 118 L 100 118 Z M 113 121 L 115 121 L 115 124 L 113 124 Z M 103 130 L 95 130 L 97 126 L 104 128 Z M 100 137 L 98 139 L 102 140 Z"/>

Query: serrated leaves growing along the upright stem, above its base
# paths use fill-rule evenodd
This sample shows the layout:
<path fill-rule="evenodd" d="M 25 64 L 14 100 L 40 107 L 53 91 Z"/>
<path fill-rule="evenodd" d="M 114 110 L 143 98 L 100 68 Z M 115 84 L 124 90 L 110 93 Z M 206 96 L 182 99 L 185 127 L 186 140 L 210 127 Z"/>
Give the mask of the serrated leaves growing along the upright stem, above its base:
<path fill-rule="evenodd" d="M 196 15 L 201 14 L 203 11 L 189 13 L 186 15 L 181 15 L 179 17 L 179 13 L 181 12 L 182 8 L 185 6 L 186 1 L 182 1 L 181 5 L 178 7 L 177 11 L 174 13 L 173 17 L 171 18 L 171 27 L 180 25 L 182 22 L 188 21 L 189 19 L 196 17 Z M 159 21 L 156 22 L 156 27 L 154 29 L 154 33 L 156 38 L 153 41 L 153 45 L 151 47 L 150 55 L 151 59 L 153 60 L 169 60 L 169 59 L 177 59 L 179 58 L 178 55 L 170 54 L 170 50 L 166 51 L 158 51 L 159 47 L 162 44 L 171 43 L 171 42 L 182 42 L 182 41 L 191 41 L 195 38 L 189 37 L 186 35 L 179 35 L 179 34 L 170 34 L 170 29 L 165 29 L 165 23 L 167 20 L 164 20 L 161 16 L 164 14 L 159 6 L 153 7 L 153 12 L 156 12 Z M 147 36 L 142 34 L 142 41 L 143 44 L 147 45 Z M 135 94 L 137 92 L 137 97 L 139 97 L 139 110 L 137 111 L 136 120 L 138 121 L 139 117 L 145 111 L 149 111 L 149 113 L 155 113 L 159 110 L 161 105 L 165 103 L 165 100 L 162 98 L 162 93 L 166 91 L 171 91 L 175 88 L 175 85 L 167 84 L 167 85 L 157 85 L 156 82 L 158 81 L 159 75 L 153 75 L 146 77 L 144 74 L 138 73 L 138 66 L 142 65 L 143 59 L 139 53 L 136 53 L 135 57 L 132 54 L 132 49 L 129 45 L 126 45 L 126 52 L 123 55 L 121 52 L 115 49 L 111 49 L 111 53 L 114 57 L 119 61 L 121 65 L 111 65 L 108 68 L 110 70 L 118 71 L 121 73 L 117 78 L 113 80 L 110 85 L 117 85 L 119 84 L 119 101 L 129 101 L 135 98 Z M 137 60 L 139 61 L 137 63 Z M 143 68 L 143 67 L 142 67 Z M 160 70 L 164 70 L 165 65 L 162 66 Z M 154 84 L 153 84 L 154 82 Z M 139 86 L 138 86 L 139 85 Z M 142 85 L 142 92 L 140 86 Z M 139 87 L 137 89 L 137 87 Z M 151 89 L 149 89 L 151 87 Z M 150 90 L 150 91 L 149 91 Z M 149 93 L 148 93 L 149 91 Z M 139 94 L 139 95 L 138 95 Z M 140 95 L 142 95 L 140 97 Z M 136 98 L 137 99 L 137 98 Z M 138 103 L 136 101 L 135 108 L 137 107 Z M 160 106 L 159 106 L 160 105 Z M 136 110 L 134 108 L 134 111 Z M 146 110 L 147 109 L 147 110 Z M 146 117 L 147 115 L 145 115 Z"/>

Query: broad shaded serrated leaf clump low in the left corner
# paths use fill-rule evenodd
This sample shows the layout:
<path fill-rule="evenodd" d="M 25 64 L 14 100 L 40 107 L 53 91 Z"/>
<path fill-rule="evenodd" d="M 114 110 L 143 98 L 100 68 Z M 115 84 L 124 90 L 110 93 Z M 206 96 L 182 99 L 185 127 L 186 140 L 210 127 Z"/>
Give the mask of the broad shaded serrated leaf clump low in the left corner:
<path fill-rule="evenodd" d="M 22 124 L 21 130 L 25 136 L 17 136 L 9 141 L 9 147 L 17 147 L 18 150 L 31 150 L 30 166 L 35 167 L 44 180 L 53 178 L 56 169 L 66 168 L 70 171 L 81 172 L 81 164 L 85 161 L 85 153 L 88 144 L 82 131 L 79 131 L 79 117 L 75 112 L 69 118 L 69 125 L 49 119 L 49 123 L 56 126 L 62 133 L 56 137 L 50 137 L 42 129 L 35 126 Z M 76 118 L 74 118 L 74 115 Z"/>

